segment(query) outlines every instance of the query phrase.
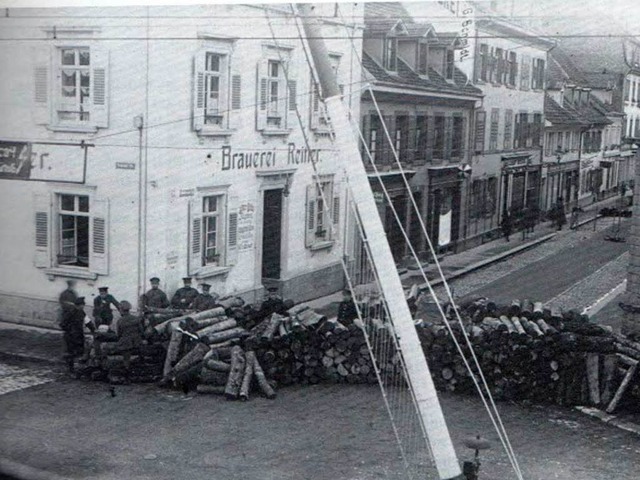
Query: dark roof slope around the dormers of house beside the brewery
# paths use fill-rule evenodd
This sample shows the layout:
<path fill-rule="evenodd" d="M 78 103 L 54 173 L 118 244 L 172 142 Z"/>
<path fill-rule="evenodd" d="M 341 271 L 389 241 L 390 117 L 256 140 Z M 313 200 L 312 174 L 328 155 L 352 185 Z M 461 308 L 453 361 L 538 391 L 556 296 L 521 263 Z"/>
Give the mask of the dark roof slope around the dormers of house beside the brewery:
<path fill-rule="evenodd" d="M 362 55 L 362 65 L 376 81 L 388 83 L 395 87 L 419 89 L 435 93 L 482 96 L 482 91 L 469 83 L 467 76 L 458 68 L 454 70 L 454 83 L 451 83 L 447 82 L 442 75 L 432 68 L 429 68 L 429 78 L 421 77 L 400 58 L 398 58 L 398 72 L 394 75 L 378 65 L 366 52 Z"/>

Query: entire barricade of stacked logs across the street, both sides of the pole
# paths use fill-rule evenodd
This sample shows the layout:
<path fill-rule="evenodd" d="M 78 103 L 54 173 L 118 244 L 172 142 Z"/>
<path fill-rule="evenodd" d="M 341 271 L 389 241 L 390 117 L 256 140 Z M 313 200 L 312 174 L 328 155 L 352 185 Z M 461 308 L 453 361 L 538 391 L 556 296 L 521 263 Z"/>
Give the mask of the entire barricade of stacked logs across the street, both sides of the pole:
<path fill-rule="evenodd" d="M 155 312 L 147 316 L 146 344 L 131 357 L 129 380 L 161 380 L 184 391 L 247 400 L 252 387 L 273 398 L 277 385 L 398 378 L 396 339 L 390 325 L 375 318 L 378 310 L 367 311 L 365 330 L 281 299 L 257 309 L 230 298 L 222 307 L 200 313 Z M 445 310 L 452 316 L 451 309 Z M 453 321 L 451 327 L 416 321 L 440 390 L 475 392 L 480 372 L 472 367 L 469 373 L 453 342 L 455 337 L 471 359 L 465 335 L 496 399 L 612 410 L 629 386 L 639 390 L 633 380 L 640 343 L 591 323 L 587 316 L 529 300 L 498 306 L 479 299 L 460 312 L 464 327 Z M 117 383 L 123 362 L 117 343 L 101 345 L 102 378 L 107 372 L 107 379 Z"/>

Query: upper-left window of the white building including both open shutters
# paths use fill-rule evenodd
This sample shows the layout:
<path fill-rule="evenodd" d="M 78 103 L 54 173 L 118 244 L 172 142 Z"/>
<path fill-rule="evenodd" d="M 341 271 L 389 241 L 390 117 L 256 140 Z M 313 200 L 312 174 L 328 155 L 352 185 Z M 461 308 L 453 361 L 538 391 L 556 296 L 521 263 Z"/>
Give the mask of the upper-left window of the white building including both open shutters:
<path fill-rule="evenodd" d="M 34 119 L 51 130 L 108 127 L 108 51 L 60 46 L 34 55 Z M 50 73 L 51 72 L 51 73 Z"/>

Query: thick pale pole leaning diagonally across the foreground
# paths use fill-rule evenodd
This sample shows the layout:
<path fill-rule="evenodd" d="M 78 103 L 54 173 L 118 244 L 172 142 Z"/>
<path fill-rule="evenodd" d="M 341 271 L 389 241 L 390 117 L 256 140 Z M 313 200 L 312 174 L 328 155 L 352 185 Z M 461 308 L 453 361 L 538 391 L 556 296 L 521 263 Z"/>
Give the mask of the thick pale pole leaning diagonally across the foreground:
<path fill-rule="evenodd" d="M 449 430 L 438 401 L 420 340 L 405 300 L 400 278 L 387 242 L 380 214 L 378 213 L 371 185 L 364 164 L 360 158 L 358 142 L 349 123 L 348 112 L 340 99 L 340 90 L 329 64 L 322 30 L 317 19 L 313 18 L 310 4 L 299 3 L 298 11 L 302 17 L 311 57 L 318 71 L 322 94 L 336 139 L 336 152 L 340 165 L 344 165 L 349 178 L 350 193 L 353 195 L 362 228 L 371 251 L 371 259 L 380 288 L 387 302 L 391 321 L 402 349 L 409 383 L 418 408 L 427 440 L 441 479 L 462 479 L 462 471 L 453 448 Z"/>

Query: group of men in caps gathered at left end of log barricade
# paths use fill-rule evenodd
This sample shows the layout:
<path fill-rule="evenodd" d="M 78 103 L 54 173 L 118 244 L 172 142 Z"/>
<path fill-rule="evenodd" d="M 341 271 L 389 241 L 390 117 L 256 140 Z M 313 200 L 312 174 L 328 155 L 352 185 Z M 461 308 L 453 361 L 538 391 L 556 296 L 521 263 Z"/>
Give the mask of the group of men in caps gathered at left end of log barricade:
<path fill-rule="evenodd" d="M 191 286 L 191 278 L 184 277 L 184 285 L 179 288 L 169 301 L 167 295 L 160 290 L 160 279 L 153 277 L 149 280 L 151 289 L 141 298 L 143 313 L 157 309 L 174 308 L 178 310 L 195 310 L 198 312 L 218 306 L 219 296 L 212 293 L 211 285 L 203 283 L 202 292 Z M 109 287 L 98 288 L 98 296 L 93 300 L 93 320 L 85 313 L 85 299 L 75 291 L 75 281 L 67 280 L 67 288 L 59 297 L 60 327 L 64 332 L 66 359 L 69 370 L 74 370 L 74 361 L 85 354 L 84 332 L 87 328 L 91 333 L 108 333 L 117 336 L 122 349 L 130 352 L 142 341 L 143 318 L 131 314 L 131 304 L 123 300 L 119 302 L 109 293 Z M 114 306 L 120 312 L 117 324 L 113 324 Z M 86 355 L 85 355 L 86 358 Z"/>

